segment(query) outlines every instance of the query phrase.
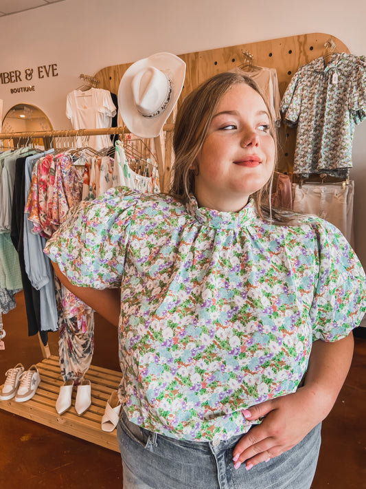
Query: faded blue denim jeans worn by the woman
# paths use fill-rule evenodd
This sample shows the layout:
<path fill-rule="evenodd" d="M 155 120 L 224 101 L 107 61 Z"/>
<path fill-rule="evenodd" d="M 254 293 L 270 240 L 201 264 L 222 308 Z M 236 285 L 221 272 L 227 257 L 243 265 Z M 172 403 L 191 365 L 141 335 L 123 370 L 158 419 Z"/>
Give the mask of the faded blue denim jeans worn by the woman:
<path fill-rule="evenodd" d="M 117 426 L 123 489 L 309 489 L 317 467 L 321 424 L 294 448 L 250 470 L 233 466 L 241 435 L 214 442 L 166 437 L 128 421 Z"/>

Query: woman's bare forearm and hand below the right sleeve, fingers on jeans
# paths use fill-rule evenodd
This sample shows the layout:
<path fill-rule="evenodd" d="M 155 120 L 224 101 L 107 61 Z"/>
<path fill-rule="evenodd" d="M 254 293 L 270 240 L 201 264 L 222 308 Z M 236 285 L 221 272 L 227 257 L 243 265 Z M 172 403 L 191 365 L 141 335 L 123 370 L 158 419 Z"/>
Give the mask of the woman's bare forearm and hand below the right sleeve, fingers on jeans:
<path fill-rule="evenodd" d="M 271 399 L 247 411 L 247 420 L 264 420 L 253 426 L 233 450 L 233 462 L 247 470 L 290 450 L 328 415 L 350 369 L 353 335 L 334 343 L 312 344 L 304 387 L 293 394 Z"/>

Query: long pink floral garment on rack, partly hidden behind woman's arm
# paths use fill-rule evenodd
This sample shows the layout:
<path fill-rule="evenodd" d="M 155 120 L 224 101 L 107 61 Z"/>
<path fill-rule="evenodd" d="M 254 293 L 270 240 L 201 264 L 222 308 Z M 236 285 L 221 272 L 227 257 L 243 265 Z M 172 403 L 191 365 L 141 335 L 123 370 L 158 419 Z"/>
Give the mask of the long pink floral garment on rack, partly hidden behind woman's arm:
<path fill-rule="evenodd" d="M 34 229 L 50 237 L 70 207 L 82 195 L 82 175 L 70 155 L 47 155 L 38 160 L 32 172 L 32 183 L 26 212 L 32 216 Z M 94 342 L 93 309 L 71 294 L 56 279 L 56 303 L 59 326 L 59 359 L 62 378 L 81 380 L 91 364 Z"/>

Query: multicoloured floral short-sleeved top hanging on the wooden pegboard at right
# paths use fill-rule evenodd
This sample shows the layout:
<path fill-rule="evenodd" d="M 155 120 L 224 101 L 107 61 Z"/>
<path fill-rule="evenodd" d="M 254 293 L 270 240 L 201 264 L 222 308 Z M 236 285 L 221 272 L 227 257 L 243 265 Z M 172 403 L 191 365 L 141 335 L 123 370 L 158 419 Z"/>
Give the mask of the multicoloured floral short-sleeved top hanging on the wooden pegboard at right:
<path fill-rule="evenodd" d="M 326 66 L 323 58 L 302 66 L 280 110 L 288 126 L 297 126 L 294 173 L 343 177 L 352 167 L 355 126 L 366 117 L 365 56 L 335 53 Z"/>

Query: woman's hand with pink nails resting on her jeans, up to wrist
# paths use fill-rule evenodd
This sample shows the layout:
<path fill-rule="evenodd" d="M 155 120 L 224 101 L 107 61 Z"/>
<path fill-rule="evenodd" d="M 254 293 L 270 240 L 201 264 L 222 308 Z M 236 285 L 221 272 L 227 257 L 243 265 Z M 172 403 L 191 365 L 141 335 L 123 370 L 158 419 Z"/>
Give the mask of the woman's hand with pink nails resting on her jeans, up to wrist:
<path fill-rule="evenodd" d="M 243 411 L 247 420 L 258 420 L 263 416 L 264 420 L 253 426 L 236 444 L 233 450 L 235 468 L 245 461 L 249 470 L 301 442 L 325 417 L 323 409 L 317 409 L 316 398 L 314 391 L 301 387 L 293 394 L 262 402 Z"/>

